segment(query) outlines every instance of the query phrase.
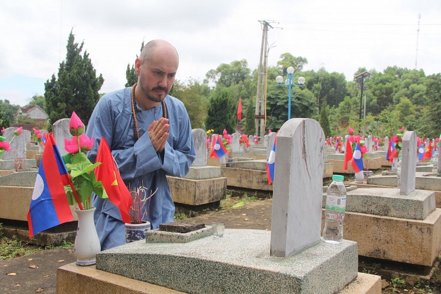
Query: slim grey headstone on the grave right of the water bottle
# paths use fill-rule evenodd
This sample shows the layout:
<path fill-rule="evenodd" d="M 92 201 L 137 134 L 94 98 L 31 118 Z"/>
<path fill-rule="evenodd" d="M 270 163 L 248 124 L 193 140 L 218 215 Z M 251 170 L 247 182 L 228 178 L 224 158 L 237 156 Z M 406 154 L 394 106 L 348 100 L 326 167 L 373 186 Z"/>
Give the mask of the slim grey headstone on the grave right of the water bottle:
<path fill-rule="evenodd" d="M 402 146 L 400 195 L 409 195 L 409 193 L 415 191 L 417 134 L 413 131 L 404 133 Z"/>

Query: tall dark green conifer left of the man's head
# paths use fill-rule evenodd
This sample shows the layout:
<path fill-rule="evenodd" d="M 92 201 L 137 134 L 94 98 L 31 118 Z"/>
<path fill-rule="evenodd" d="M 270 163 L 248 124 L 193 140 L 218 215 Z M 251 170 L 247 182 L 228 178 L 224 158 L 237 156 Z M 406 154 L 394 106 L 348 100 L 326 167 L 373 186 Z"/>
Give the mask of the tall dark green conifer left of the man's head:
<path fill-rule="evenodd" d="M 51 124 L 61 118 L 69 118 L 73 111 L 87 123 L 98 102 L 98 90 L 104 79 L 101 74 L 96 77 L 89 54 L 84 51 L 81 56 L 83 45 L 84 42 L 81 45 L 74 42 L 74 35 L 70 31 L 66 60 L 60 63 L 58 79 L 52 75 L 44 83 L 46 112 Z"/>

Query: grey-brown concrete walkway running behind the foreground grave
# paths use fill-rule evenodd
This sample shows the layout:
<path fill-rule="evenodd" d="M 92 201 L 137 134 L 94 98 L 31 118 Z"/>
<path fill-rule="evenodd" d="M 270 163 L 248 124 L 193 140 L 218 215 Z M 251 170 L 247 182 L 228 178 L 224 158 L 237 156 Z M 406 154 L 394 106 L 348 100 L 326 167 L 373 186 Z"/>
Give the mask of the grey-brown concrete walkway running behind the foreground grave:
<path fill-rule="evenodd" d="M 271 209 L 272 200 L 270 199 L 189 218 L 185 221 L 205 225 L 224 221 L 225 227 L 229 229 L 271 230 Z M 0 261 L 0 294 L 56 294 L 56 270 L 75 261 L 71 249 L 45 250 Z"/>

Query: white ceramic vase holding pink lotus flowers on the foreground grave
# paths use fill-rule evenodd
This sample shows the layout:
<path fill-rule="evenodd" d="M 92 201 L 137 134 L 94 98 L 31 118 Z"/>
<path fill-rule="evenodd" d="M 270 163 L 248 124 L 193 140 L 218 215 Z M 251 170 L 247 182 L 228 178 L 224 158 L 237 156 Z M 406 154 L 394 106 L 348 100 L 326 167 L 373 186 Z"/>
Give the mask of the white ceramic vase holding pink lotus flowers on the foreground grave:
<path fill-rule="evenodd" d="M 86 210 L 75 209 L 78 216 L 73 253 L 78 266 L 91 266 L 96 263 L 96 254 L 101 251 L 98 234 L 93 221 L 95 207 Z"/>

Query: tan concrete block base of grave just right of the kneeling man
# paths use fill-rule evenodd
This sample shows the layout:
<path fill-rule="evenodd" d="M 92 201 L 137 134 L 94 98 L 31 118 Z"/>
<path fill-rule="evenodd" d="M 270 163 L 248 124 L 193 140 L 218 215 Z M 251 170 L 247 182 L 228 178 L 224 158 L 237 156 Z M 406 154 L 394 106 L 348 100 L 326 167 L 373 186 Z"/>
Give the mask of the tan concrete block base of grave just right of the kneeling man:
<path fill-rule="evenodd" d="M 202 205 L 221 201 L 227 193 L 227 179 L 213 178 L 191 180 L 167 176 L 174 202 L 186 205 Z"/>

